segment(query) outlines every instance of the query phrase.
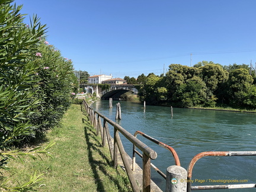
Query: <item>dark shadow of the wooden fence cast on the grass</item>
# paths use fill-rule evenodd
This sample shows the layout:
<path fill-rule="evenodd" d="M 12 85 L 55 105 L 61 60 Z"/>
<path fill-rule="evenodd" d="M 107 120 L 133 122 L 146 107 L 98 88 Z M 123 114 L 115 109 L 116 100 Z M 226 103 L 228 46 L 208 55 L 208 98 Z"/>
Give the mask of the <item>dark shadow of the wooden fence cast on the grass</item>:
<path fill-rule="evenodd" d="M 102 147 L 102 145 L 100 144 L 100 142 L 98 142 L 98 137 L 95 136 L 95 129 L 91 126 L 91 124 L 89 124 L 86 119 L 83 119 L 83 122 L 85 123 L 84 132 L 85 140 L 87 143 L 89 164 L 94 174 L 94 181 L 97 185 L 97 191 L 107 191 L 104 187 L 103 182 L 99 179 L 100 172 L 107 176 L 110 181 L 113 181 L 119 191 L 132 191 L 126 188 L 130 185 L 129 180 L 121 178 L 124 183 L 124 186 L 121 186 L 119 180 L 108 173 L 105 167 L 110 167 L 113 163 L 108 159 L 107 156 L 104 155 L 103 152 L 101 152 L 100 148 Z M 95 142 L 98 143 L 98 145 L 95 144 Z M 94 152 L 94 154 L 92 152 Z M 95 156 L 100 156 L 100 159 L 102 160 L 95 159 Z M 119 171 L 114 169 L 114 174 L 119 175 Z"/>

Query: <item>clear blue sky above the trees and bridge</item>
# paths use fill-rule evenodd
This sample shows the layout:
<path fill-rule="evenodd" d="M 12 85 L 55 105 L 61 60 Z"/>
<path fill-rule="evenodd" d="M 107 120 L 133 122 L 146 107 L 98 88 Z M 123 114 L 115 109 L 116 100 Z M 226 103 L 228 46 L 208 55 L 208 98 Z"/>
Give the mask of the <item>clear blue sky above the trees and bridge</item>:
<path fill-rule="evenodd" d="M 75 70 L 114 78 L 171 63 L 256 62 L 255 0 L 17 0 L 47 24 L 47 41 Z M 192 56 L 191 56 L 192 54 Z M 192 58 L 192 62 L 191 62 Z"/>

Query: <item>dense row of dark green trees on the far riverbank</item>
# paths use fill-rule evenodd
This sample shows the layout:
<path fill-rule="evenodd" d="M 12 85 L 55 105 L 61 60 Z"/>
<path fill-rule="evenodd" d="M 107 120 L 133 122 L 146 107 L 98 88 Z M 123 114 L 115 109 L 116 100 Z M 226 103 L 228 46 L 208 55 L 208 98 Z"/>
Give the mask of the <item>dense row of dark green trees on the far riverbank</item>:
<path fill-rule="evenodd" d="M 150 73 L 137 79 L 125 78 L 131 84 L 139 84 L 140 100 L 152 105 L 256 108 L 255 71 L 245 64 L 222 66 L 206 61 L 193 67 L 171 64 L 165 75 Z"/>

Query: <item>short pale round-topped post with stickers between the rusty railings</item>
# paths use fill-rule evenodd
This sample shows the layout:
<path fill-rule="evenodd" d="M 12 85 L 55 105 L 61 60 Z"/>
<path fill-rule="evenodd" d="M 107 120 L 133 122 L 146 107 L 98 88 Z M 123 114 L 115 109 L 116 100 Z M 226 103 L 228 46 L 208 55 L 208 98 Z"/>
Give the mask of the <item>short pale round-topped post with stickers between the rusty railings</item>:
<path fill-rule="evenodd" d="M 187 170 L 183 167 L 172 165 L 167 168 L 166 192 L 187 191 Z"/>

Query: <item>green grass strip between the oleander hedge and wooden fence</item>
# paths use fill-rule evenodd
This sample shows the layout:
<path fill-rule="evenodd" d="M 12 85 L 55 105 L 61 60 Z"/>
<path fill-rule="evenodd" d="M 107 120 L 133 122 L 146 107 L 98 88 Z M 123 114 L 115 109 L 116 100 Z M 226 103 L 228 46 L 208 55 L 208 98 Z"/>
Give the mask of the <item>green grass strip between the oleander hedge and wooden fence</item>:
<path fill-rule="evenodd" d="M 36 171 L 44 174 L 44 180 L 34 185 L 38 191 L 132 191 L 123 169 L 111 167 L 108 148 L 102 148 L 81 105 L 71 105 L 62 125 L 49 132 L 41 145 L 50 142 L 56 142 L 50 149 L 53 158 L 9 162 L 11 170 L 3 172 L 10 179 L 8 185 L 26 183 Z"/>

